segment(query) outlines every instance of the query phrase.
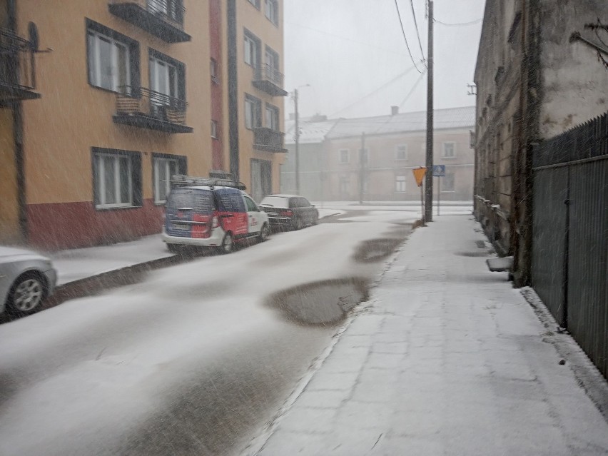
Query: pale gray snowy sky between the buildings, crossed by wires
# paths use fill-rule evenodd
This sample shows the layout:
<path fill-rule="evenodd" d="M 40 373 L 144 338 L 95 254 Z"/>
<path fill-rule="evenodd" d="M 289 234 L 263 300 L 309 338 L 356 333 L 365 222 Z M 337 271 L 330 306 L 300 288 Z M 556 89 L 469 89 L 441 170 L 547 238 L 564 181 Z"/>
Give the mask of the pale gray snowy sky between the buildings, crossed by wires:
<path fill-rule="evenodd" d="M 407 42 L 422 70 L 410 0 L 397 3 Z M 413 0 L 426 57 L 425 3 Z M 476 21 L 482 19 L 484 4 L 435 0 L 435 19 L 450 24 Z M 421 78 L 412 68 L 395 0 L 285 0 L 284 9 L 285 90 L 310 84 L 298 88 L 300 116 L 380 116 L 402 103 L 400 112 L 426 109 L 427 76 Z M 472 83 L 480 33 L 480 22 L 435 23 L 435 108 L 475 104 L 467 95 L 467 83 Z M 285 100 L 285 112 L 293 112 L 291 98 Z"/>

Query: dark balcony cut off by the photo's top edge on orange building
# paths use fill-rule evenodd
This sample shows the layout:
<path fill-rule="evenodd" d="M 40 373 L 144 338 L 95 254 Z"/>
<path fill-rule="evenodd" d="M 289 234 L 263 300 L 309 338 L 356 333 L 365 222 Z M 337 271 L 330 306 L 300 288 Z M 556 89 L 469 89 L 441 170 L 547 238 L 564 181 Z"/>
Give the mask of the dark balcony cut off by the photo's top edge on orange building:
<path fill-rule="evenodd" d="M 138 26 L 167 43 L 190 41 L 183 31 L 186 9 L 182 0 L 112 0 L 111 14 Z"/>

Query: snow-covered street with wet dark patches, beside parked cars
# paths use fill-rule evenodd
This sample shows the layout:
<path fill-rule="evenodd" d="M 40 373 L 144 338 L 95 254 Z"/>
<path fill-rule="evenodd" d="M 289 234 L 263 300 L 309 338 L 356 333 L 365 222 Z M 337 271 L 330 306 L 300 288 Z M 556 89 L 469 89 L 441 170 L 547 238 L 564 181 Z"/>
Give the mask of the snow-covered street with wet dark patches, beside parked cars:
<path fill-rule="evenodd" d="M 346 213 L 1 325 L 0 454 L 238 452 L 412 214 Z"/>

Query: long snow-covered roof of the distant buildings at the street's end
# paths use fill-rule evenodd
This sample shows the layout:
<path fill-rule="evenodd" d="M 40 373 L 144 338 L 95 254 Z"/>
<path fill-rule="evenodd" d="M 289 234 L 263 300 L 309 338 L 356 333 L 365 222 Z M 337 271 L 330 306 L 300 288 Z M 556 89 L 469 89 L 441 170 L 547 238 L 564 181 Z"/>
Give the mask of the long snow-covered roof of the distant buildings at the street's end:
<path fill-rule="evenodd" d="M 435 130 L 450 128 L 473 128 L 475 126 L 475 106 L 435 109 L 433 118 Z M 300 120 L 300 144 L 320 143 L 325 138 L 338 139 L 367 135 L 425 131 L 427 111 L 395 114 L 395 116 L 375 116 L 360 118 L 340 118 L 313 122 Z M 285 143 L 295 143 L 295 122 L 285 122 Z"/>

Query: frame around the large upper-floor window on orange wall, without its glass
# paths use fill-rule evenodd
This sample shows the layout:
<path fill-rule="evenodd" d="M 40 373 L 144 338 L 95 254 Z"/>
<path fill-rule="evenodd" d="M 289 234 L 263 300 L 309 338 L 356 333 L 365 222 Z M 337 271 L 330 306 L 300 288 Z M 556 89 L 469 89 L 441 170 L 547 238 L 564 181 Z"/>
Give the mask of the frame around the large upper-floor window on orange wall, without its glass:
<path fill-rule="evenodd" d="M 91 43 L 91 36 L 93 36 L 93 43 Z M 119 33 L 109 27 L 99 24 L 96 21 L 86 18 L 85 20 L 85 37 L 86 37 L 86 72 L 87 81 L 91 87 L 99 88 L 104 91 L 111 91 L 113 93 L 138 93 L 140 87 L 140 69 L 139 69 L 139 43 L 138 41 L 129 38 L 126 35 Z M 123 46 L 126 51 L 126 60 L 124 66 L 126 69 L 126 84 L 125 86 L 130 88 L 121 92 L 118 73 L 112 74 L 112 87 L 108 88 L 101 86 L 101 69 L 98 43 L 101 39 L 106 39 L 112 46 L 112 68 L 118 68 L 118 55 L 116 55 L 116 45 Z M 95 49 L 91 49 L 91 44 Z"/>

